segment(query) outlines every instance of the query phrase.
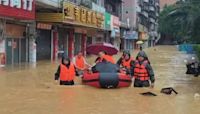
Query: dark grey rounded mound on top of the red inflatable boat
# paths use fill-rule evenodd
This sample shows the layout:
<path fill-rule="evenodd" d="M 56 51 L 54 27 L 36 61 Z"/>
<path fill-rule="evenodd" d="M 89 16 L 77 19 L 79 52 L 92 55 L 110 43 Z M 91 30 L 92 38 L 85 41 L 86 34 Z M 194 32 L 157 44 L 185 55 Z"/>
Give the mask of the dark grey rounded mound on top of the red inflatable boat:
<path fill-rule="evenodd" d="M 91 70 L 93 73 L 117 73 L 120 71 L 120 68 L 118 65 L 103 59 L 101 62 L 98 62 L 95 66 L 93 66 Z"/>

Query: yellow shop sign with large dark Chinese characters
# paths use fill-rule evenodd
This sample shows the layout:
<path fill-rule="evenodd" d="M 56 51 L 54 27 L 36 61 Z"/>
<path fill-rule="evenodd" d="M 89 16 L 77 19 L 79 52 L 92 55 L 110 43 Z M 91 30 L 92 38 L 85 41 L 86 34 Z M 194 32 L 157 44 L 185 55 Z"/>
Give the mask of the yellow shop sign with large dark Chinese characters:
<path fill-rule="evenodd" d="M 90 25 L 102 28 L 104 24 L 104 15 L 84 7 L 76 6 L 72 3 L 64 4 L 65 21 L 73 21 L 78 24 Z"/>

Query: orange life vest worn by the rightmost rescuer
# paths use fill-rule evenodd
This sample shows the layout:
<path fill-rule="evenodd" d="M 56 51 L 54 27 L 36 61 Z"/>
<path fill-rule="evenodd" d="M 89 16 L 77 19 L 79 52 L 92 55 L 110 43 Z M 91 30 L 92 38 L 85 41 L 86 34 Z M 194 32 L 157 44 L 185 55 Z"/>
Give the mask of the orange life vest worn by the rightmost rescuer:
<path fill-rule="evenodd" d="M 146 64 L 148 61 L 144 61 L 141 65 L 138 60 L 135 61 L 134 77 L 141 81 L 149 80 L 149 74 L 146 69 Z"/>

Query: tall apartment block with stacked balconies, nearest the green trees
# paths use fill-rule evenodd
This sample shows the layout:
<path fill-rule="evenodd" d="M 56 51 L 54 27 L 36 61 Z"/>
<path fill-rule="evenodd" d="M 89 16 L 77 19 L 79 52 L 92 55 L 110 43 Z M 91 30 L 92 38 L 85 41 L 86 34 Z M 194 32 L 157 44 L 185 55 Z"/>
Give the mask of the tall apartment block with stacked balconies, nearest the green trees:
<path fill-rule="evenodd" d="M 139 40 L 145 42 L 144 47 L 154 46 L 159 37 L 159 0 L 138 0 L 137 3 L 137 7 L 141 9 L 137 12 Z"/>

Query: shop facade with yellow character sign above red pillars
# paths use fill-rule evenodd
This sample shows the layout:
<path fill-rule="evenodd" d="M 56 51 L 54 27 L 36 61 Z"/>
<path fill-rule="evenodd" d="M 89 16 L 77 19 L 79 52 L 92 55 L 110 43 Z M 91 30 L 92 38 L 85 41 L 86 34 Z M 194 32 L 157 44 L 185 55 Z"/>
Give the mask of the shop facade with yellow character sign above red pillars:
<path fill-rule="evenodd" d="M 38 60 L 56 60 L 63 54 L 73 57 L 79 51 L 85 55 L 86 45 L 103 42 L 105 9 L 96 3 L 101 4 L 68 0 L 53 8 L 40 7 L 36 14 L 37 24 L 49 27 L 37 26 Z M 48 53 L 44 54 L 43 50 Z"/>

